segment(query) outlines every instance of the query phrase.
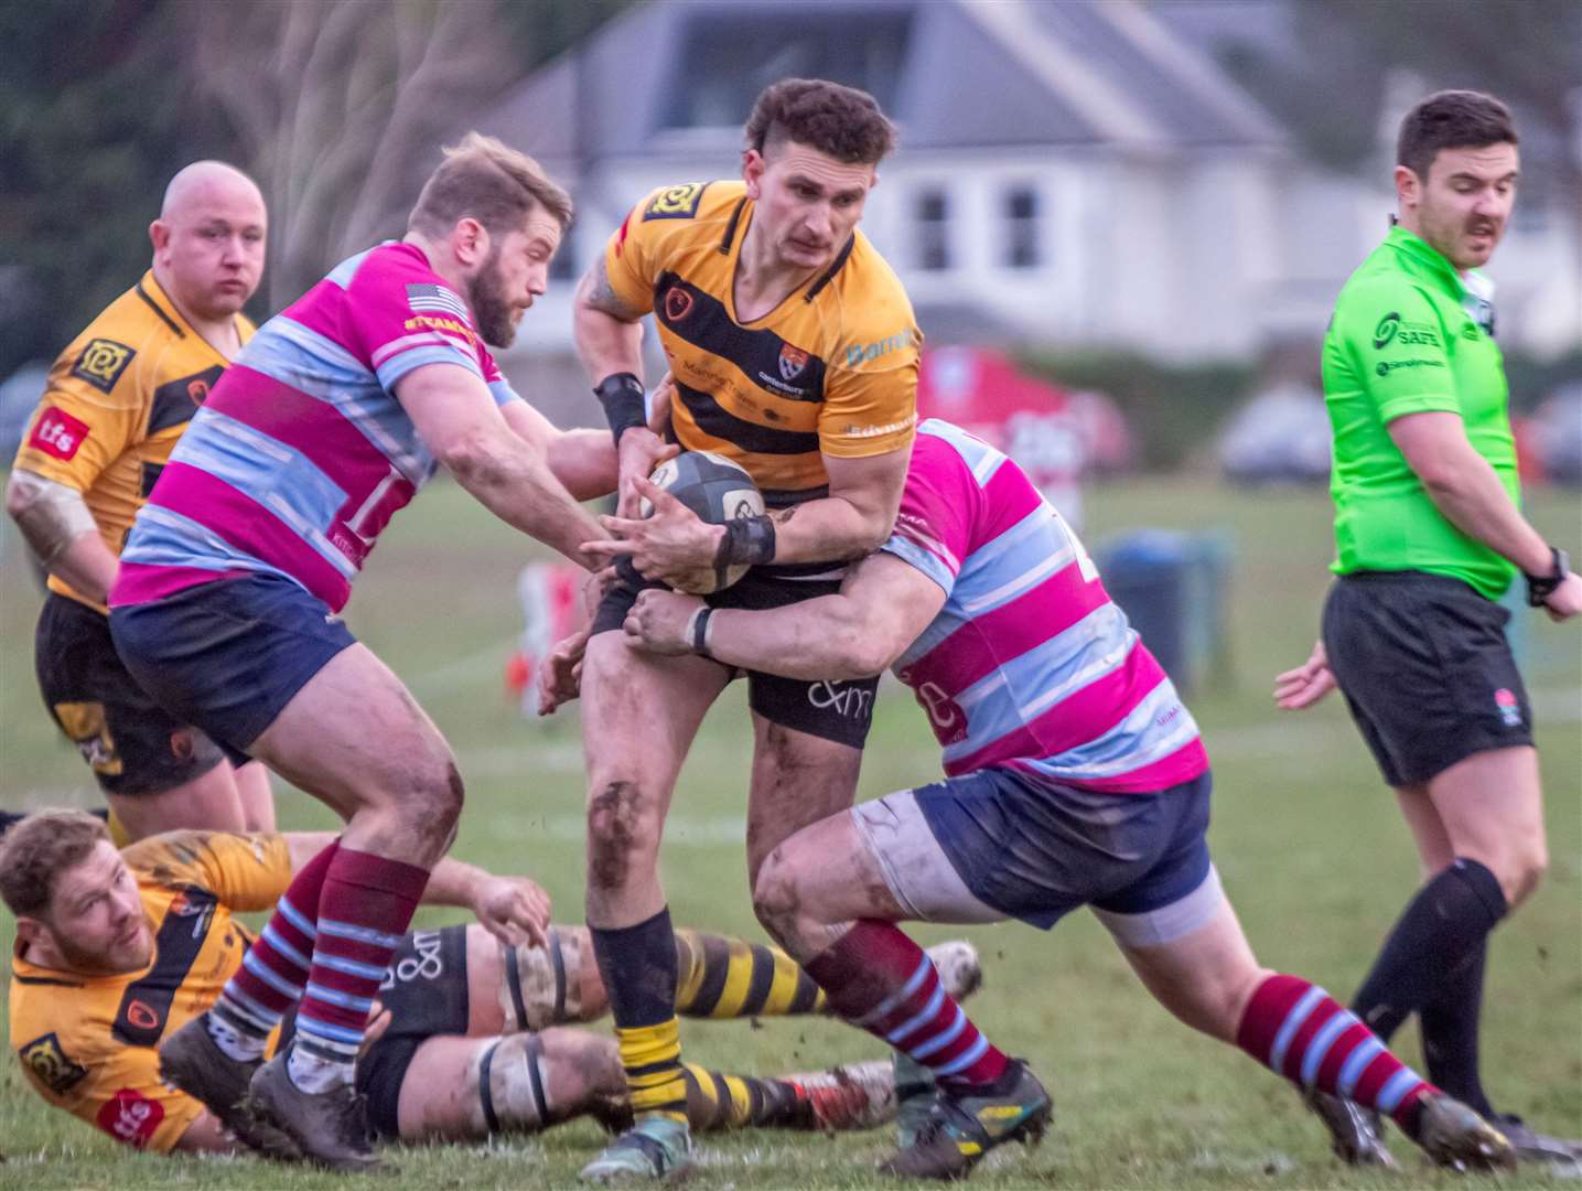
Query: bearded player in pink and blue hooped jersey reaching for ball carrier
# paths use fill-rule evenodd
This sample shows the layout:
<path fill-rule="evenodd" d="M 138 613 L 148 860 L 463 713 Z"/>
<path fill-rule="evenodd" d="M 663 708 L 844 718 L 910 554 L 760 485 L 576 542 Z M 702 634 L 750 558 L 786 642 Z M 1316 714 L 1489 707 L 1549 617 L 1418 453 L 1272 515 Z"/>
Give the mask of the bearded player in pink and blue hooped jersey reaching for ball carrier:
<path fill-rule="evenodd" d="M 389 519 L 433 475 L 592 561 L 579 497 L 614 489 L 603 432 L 557 432 L 501 378 L 544 293 L 571 201 L 492 138 L 446 150 L 407 236 L 335 266 L 220 378 L 127 538 L 109 595 L 131 675 L 229 756 L 326 802 L 346 830 L 293 879 L 214 1009 L 165 1038 L 165 1071 L 218 1102 L 263 1058 L 256 1113 L 313 1159 L 375 1161 L 353 1060 L 365 1009 L 454 837 L 462 778 L 400 680 L 340 618 Z M 259 974 L 259 973 L 264 974 Z"/>

